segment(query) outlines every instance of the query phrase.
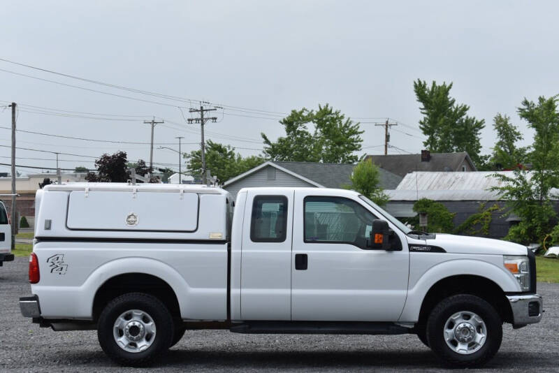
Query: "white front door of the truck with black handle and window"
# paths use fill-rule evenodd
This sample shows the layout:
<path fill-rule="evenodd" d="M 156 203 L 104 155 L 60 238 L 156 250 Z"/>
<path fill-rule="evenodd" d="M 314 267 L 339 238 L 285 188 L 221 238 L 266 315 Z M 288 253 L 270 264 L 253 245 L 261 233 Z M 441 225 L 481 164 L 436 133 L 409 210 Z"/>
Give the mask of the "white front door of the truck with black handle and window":
<path fill-rule="evenodd" d="M 312 193 L 312 194 L 311 194 Z M 331 191 L 296 191 L 291 317 L 316 321 L 397 321 L 407 295 L 409 252 L 366 246 L 372 207 Z"/>

